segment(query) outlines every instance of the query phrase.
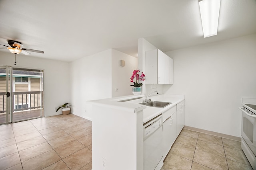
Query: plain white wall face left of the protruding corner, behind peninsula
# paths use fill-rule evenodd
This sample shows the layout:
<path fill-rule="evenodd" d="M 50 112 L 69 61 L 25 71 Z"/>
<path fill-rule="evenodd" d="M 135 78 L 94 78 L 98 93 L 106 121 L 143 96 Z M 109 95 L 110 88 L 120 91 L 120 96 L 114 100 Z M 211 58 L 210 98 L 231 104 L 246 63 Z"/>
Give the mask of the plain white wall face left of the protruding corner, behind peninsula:
<path fill-rule="evenodd" d="M 112 49 L 78 59 L 71 63 L 72 113 L 91 120 L 88 100 L 111 98 Z"/>

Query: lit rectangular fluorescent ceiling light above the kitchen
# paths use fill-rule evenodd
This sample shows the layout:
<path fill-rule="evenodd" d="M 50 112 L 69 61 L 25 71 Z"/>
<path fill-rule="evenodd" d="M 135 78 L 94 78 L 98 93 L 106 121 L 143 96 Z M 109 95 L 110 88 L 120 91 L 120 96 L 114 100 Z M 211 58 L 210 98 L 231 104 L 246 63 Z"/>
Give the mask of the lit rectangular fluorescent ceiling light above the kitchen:
<path fill-rule="evenodd" d="M 204 38 L 217 35 L 220 0 L 199 0 Z"/>

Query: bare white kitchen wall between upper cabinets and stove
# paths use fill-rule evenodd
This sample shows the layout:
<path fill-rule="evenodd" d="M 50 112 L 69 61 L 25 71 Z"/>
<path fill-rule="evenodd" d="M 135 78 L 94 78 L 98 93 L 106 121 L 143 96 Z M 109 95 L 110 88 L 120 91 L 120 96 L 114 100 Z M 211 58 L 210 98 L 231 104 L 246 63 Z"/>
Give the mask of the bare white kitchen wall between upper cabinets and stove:
<path fill-rule="evenodd" d="M 240 137 L 242 97 L 256 97 L 256 34 L 166 52 L 174 84 L 185 94 L 185 125 Z"/>

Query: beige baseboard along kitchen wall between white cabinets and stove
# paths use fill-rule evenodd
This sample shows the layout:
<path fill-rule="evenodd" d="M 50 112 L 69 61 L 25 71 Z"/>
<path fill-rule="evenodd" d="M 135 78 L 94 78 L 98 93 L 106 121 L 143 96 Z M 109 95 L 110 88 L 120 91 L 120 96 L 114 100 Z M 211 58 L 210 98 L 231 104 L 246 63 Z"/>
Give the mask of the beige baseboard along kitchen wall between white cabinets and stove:
<path fill-rule="evenodd" d="M 214 136 L 217 136 L 217 137 L 223 137 L 223 138 L 226 138 L 226 139 L 231 139 L 231 140 L 234 140 L 234 141 L 241 142 L 241 137 L 226 135 L 226 134 L 223 134 L 223 133 L 218 133 L 218 132 L 213 132 L 213 131 L 207 131 L 207 130 L 204 130 L 204 129 L 199 129 L 199 128 L 190 127 L 190 126 L 184 126 L 184 129 L 188 129 L 188 130 L 196 131 L 196 132 L 200 132 L 200 133 L 206 133 L 208 135 L 214 135 Z"/>

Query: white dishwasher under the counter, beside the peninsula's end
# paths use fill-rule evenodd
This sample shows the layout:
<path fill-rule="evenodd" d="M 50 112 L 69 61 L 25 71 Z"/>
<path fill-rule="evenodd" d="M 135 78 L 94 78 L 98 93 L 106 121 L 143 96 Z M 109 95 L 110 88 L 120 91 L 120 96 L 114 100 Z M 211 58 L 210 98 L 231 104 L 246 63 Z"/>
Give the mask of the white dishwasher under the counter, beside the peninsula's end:
<path fill-rule="evenodd" d="M 160 170 L 163 161 L 162 149 L 162 114 L 154 119 L 144 123 L 143 125 L 143 169 L 144 170 Z"/>

